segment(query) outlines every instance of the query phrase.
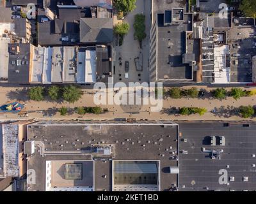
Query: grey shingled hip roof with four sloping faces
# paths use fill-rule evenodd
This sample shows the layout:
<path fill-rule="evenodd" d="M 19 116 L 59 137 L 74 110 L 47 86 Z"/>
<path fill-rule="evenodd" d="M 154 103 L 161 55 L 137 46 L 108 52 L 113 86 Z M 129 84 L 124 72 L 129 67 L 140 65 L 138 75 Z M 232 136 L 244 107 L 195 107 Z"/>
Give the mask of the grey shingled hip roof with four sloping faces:
<path fill-rule="evenodd" d="M 81 43 L 110 43 L 113 41 L 112 18 L 81 18 Z"/>

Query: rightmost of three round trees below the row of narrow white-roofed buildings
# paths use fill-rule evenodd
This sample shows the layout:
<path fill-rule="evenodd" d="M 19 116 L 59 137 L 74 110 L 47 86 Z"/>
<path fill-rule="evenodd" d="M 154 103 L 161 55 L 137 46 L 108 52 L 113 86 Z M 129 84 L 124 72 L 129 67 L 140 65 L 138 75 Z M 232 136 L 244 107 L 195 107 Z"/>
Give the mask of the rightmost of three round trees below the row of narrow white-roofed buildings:
<path fill-rule="evenodd" d="M 70 103 L 78 101 L 82 96 L 83 92 L 75 85 L 67 85 L 63 88 L 63 99 Z"/>

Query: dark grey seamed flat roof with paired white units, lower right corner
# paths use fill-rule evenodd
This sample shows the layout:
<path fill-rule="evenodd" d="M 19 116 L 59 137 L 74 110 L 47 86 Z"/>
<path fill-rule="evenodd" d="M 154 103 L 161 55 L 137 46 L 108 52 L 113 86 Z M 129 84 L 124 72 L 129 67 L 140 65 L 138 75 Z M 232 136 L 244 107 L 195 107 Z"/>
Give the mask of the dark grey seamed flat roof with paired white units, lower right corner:
<path fill-rule="evenodd" d="M 179 150 L 188 154 L 179 155 L 179 190 L 180 191 L 253 191 L 256 189 L 256 124 L 222 122 L 179 123 L 181 138 Z M 225 136 L 225 146 L 211 145 L 211 136 Z M 223 150 L 221 159 L 211 159 L 205 150 Z M 227 183 L 220 178 L 227 172 Z M 231 177 L 231 178 L 230 178 Z M 234 178 L 232 178 L 234 177 Z M 244 181 L 248 177 L 248 181 Z M 231 181 L 234 179 L 234 181 Z M 220 181 L 219 181 L 220 180 Z"/>

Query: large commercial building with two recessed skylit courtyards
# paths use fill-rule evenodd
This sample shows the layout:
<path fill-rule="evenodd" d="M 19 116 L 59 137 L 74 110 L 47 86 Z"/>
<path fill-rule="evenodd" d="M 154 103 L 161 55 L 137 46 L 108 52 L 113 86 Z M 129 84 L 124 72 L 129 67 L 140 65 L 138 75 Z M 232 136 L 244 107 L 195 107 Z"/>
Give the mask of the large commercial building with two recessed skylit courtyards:
<path fill-rule="evenodd" d="M 166 191 L 177 186 L 168 171 L 177 168 L 177 131 L 170 121 L 36 122 L 24 148 L 27 189 Z"/>

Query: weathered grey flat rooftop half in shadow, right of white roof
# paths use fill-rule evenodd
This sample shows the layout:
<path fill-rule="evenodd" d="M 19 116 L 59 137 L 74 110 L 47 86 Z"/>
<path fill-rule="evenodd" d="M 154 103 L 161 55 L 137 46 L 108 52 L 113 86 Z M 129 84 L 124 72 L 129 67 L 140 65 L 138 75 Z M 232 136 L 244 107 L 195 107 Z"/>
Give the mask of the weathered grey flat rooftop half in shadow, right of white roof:
<path fill-rule="evenodd" d="M 252 82 L 252 57 L 256 55 L 255 28 L 251 18 L 238 18 L 227 33 L 231 54 L 231 82 Z"/>

